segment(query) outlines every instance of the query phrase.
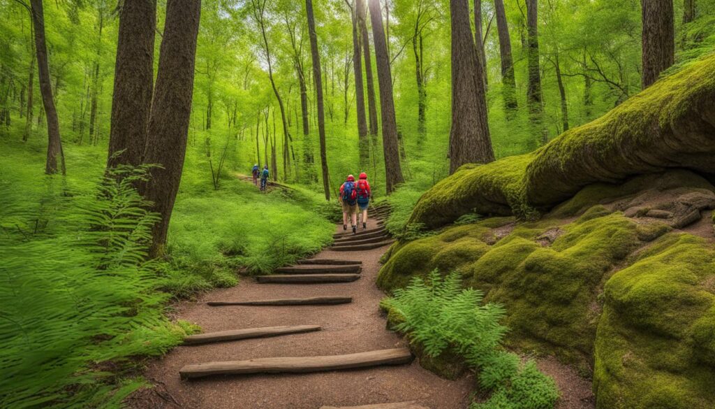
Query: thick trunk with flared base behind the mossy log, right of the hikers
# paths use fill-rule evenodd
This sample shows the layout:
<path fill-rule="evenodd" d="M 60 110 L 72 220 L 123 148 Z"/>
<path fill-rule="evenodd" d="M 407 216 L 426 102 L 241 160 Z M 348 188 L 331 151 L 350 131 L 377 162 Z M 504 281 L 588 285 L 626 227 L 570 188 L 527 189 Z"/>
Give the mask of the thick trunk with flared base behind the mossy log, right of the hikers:
<path fill-rule="evenodd" d="M 467 0 L 450 0 L 452 23 L 452 129 L 450 173 L 465 163 L 494 160 L 487 122 L 483 67 L 477 57 Z"/>

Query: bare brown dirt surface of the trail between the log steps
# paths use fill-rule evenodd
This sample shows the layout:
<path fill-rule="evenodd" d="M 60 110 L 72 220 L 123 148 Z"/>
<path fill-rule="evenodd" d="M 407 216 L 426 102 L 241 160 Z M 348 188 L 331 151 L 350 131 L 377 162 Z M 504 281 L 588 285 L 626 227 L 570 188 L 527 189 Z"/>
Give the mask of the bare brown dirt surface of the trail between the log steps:
<path fill-rule="evenodd" d="M 368 228 L 377 228 L 375 221 Z M 342 232 L 342 226 L 337 232 Z M 467 408 L 473 377 L 444 380 L 410 365 L 373 367 L 297 375 L 249 375 L 179 379 L 187 364 L 249 360 L 260 357 L 341 355 L 403 347 L 385 329 L 378 303 L 385 294 L 375 287 L 378 260 L 387 246 L 367 251 L 326 249 L 316 259 L 362 260 L 362 277 L 338 284 L 257 284 L 244 278 L 237 287 L 204 294 L 197 302 L 179 304 L 179 318 L 201 325 L 204 332 L 274 325 L 318 324 L 322 331 L 272 338 L 220 342 L 175 348 L 149 365 L 147 379 L 159 387 L 152 396 L 132 398 L 136 408 L 317 409 L 416 400 L 431 409 Z M 317 296 L 353 297 L 350 304 L 292 307 L 209 307 L 207 301 Z"/>

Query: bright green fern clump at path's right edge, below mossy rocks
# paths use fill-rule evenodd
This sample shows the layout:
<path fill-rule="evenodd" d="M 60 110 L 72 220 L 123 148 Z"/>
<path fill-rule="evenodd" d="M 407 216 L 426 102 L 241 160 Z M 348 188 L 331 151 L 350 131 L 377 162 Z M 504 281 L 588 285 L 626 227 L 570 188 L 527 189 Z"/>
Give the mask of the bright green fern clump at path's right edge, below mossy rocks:
<path fill-rule="evenodd" d="M 500 324 L 501 306 L 483 303 L 483 293 L 463 289 L 462 277 L 443 278 L 437 270 L 427 279 L 413 278 L 408 287 L 383 299 L 394 329 L 406 334 L 422 352 L 420 362 L 445 354 L 461 357 L 478 374 L 480 390 L 490 392 L 473 409 L 551 409 L 558 399 L 556 384 L 533 360 L 503 349 L 507 328 Z"/>

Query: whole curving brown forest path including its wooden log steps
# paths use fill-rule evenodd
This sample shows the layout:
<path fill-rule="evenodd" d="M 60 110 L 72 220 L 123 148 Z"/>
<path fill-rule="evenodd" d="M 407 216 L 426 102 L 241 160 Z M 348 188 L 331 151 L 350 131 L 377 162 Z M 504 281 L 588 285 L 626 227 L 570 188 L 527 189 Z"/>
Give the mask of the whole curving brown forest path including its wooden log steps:
<path fill-rule="evenodd" d="M 330 261 L 331 264 L 305 261 L 270 276 L 274 281 L 280 276 L 284 279 L 279 281 L 298 280 L 302 284 L 273 284 L 245 278 L 237 287 L 219 289 L 204 294 L 197 302 L 179 304 L 178 317 L 201 325 L 204 335 L 194 338 L 192 343 L 197 345 L 177 347 L 162 360 L 149 364 L 145 376 L 158 386 L 150 393 L 145 391 L 132 396 L 130 405 L 135 408 L 319 409 L 398 403 L 369 408 L 466 408 L 473 388 L 472 377 L 449 381 L 424 370 L 409 354 L 405 357 L 405 341 L 385 328 L 385 319 L 378 310 L 385 294 L 375 287 L 375 277 L 380 268 L 378 260 L 390 241 L 380 230 L 379 223 L 371 220 L 367 232 L 343 237 L 342 226 L 338 226 L 336 243 L 314 257 L 335 260 Z M 355 269 L 359 264 L 345 264 L 352 261 L 362 261 L 362 268 Z M 320 273 L 326 271 L 324 279 L 342 282 L 315 283 L 320 280 Z M 265 304 L 266 300 L 268 304 L 275 304 L 276 299 L 296 304 L 315 302 L 305 299 L 316 297 L 330 297 L 332 303 L 207 304 L 244 301 Z M 347 302 L 350 297 L 352 301 Z M 223 342 L 211 342 L 211 333 L 237 329 L 259 330 L 222 333 L 217 337 L 222 337 Z M 250 336 L 268 337 L 246 338 Z M 378 351 L 378 355 L 358 354 L 374 351 Z M 385 354 L 390 356 L 385 359 Z M 275 357 L 292 359 L 263 359 Z M 227 361 L 232 363 L 227 365 Z M 206 365 L 207 362 L 220 363 Z M 286 370 L 342 367 L 346 362 L 377 366 L 285 373 Z M 385 363 L 390 365 L 381 365 Z M 216 371 L 283 373 L 202 377 Z M 182 380 L 179 372 L 192 379 Z"/>

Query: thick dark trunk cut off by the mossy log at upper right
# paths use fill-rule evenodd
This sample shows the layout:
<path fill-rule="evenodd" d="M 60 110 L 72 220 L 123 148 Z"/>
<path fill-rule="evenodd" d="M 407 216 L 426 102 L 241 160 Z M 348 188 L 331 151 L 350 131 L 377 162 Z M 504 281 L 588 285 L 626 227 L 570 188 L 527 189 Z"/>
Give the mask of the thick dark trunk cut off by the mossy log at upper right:
<path fill-rule="evenodd" d="M 643 87 L 650 87 L 675 61 L 673 0 L 641 0 Z"/>

